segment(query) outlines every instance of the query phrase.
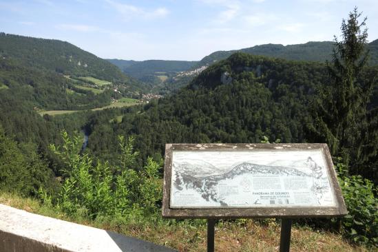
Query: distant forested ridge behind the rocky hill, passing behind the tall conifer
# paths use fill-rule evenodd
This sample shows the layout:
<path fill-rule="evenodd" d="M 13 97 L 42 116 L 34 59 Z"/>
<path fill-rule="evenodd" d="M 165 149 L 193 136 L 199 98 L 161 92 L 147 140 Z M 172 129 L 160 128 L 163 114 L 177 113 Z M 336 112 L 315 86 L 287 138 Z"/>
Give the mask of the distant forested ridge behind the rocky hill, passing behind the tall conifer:
<path fill-rule="evenodd" d="M 251 48 L 240 50 L 217 51 L 205 56 L 196 67 L 211 65 L 222 59 L 227 59 L 235 52 L 245 52 L 258 56 L 270 56 L 295 61 L 317 61 L 325 62 L 331 59 L 334 42 L 332 41 L 310 41 L 304 44 L 281 45 L 264 44 L 255 45 Z M 370 50 L 370 65 L 378 65 L 378 39 L 368 44 Z"/>

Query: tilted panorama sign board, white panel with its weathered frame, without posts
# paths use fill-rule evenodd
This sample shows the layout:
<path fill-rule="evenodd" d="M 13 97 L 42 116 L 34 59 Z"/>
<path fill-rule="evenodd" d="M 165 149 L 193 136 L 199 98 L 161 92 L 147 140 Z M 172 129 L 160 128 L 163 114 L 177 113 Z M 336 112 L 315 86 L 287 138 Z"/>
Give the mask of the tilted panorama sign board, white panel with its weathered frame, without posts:
<path fill-rule="evenodd" d="M 176 218 L 346 214 L 324 144 L 167 145 L 163 198 Z"/>

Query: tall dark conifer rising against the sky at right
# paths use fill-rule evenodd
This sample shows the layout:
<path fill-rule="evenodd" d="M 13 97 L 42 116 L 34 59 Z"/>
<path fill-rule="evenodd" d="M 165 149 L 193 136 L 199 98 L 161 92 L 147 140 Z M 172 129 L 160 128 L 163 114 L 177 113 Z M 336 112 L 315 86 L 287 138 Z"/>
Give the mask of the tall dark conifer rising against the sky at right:
<path fill-rule="evenodd" d="M 377 155 L 377 129 L 372 127 L 377 116 L 368 109 L 375 78 L 366 78 L 368 32 L 366 17 L 359 19 L 361 12 L 355 8 L 342 21 L 342 40 L 335 36 L 333 59 L 327 62 L 329 82 L 315 98 L 311 127 L 316 140 L 326 140 L 332 154 L 342 156 L 355 171 Z"/>

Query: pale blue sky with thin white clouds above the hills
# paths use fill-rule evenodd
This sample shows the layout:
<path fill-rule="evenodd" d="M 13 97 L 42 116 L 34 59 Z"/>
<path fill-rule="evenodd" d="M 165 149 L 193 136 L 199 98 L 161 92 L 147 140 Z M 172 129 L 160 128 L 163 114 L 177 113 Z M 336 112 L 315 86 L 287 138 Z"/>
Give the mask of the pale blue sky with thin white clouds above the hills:
<path fill-rule="evenodd" d="M 105 59 L 199 61 L 218 50 L 332 41 L 378 0 L 0 0 L 0 32 L 68 41 Z M 369 29 L 370 28 L 370 29 Z"/>

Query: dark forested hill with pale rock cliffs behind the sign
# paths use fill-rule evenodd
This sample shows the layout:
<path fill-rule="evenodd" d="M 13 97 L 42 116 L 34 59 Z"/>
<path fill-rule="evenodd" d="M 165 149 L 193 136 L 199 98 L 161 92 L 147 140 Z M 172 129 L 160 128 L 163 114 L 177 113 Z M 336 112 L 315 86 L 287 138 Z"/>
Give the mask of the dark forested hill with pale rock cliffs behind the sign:
<path fill-rule="evenodd" d="M 109 157 L 118 134 L 135 134 L 143 156 L 162 154 L 165 143 L 256 143 L 264 135 L 300 143 L 309 98 L 322 83 L 326 72 L 319 63 L 234 54 L 120 124 L 93 120 L 88 146 Z"/>

